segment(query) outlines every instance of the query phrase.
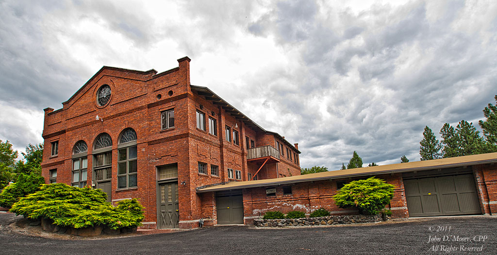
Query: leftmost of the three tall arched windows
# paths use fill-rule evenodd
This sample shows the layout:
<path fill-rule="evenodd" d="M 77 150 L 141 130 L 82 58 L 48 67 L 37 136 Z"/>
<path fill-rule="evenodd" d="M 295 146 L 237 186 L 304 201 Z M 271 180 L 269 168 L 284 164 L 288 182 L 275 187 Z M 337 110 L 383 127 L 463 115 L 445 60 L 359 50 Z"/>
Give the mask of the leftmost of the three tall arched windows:
<path fill-rule="evenodd" d="M 73 177 L 72 184 L 75 187 L 83 188 L 86 186 L 88 173 L 88 146 L 84 141 L 79 141 L 73 148 Z"/>

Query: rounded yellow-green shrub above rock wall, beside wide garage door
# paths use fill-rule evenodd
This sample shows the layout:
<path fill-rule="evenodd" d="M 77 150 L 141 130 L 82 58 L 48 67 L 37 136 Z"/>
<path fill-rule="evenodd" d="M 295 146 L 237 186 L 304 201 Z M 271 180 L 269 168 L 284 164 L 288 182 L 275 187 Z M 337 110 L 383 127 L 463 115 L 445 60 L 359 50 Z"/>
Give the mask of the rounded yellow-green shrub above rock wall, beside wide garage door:
<path fill-rule="evenodd" d="M 357 207 L 361 214 L 378 214 L 394 197 L 394 185 L 374 177 L 352 181 L 333 197 L 340 208 Z"/>

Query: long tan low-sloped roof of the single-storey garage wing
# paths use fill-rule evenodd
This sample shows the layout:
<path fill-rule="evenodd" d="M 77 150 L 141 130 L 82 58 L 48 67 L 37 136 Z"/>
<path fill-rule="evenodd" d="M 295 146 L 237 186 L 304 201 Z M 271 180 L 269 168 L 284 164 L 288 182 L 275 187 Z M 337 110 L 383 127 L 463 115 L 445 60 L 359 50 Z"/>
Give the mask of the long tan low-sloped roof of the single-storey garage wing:
<path fill-rule="evenodd" d="M 245 181 L 245 182 L 229 182 L 223 185 L 199 187 L 197 188 L 197 193 L 265 187 L 265 186 L 274 186 L 274 185 L 282 185 L 282 184 L 290 184 L 298 182 L 331 180 L 331 179 L 347 178 L 354 176 L 413 172 L 413 171 L 422 171 L 422 170 L 448 168 L 448 167 L 487 164 L 495 162 L 497 162 L 497 153 L 486 153 L 486 154 L 477 154 L 469 156 L 414 161 L 414 162 L 399 163 L 399 164 L 360 167 L 354 169 L 296 175 L 296 176 L 277 178 L 277 179 L 265 179 L 265 180 Z"/>

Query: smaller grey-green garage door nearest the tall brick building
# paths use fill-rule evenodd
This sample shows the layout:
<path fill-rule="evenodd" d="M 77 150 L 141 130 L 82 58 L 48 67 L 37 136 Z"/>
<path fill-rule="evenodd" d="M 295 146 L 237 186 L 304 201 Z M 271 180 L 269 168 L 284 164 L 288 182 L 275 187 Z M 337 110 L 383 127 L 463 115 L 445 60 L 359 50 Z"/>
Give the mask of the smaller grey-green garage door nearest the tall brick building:
<path fill-rule="evenodd" d="M 244 204 L 241 190 L 218 192 L 216 205 L 218 224 L 244 223 Z"/>

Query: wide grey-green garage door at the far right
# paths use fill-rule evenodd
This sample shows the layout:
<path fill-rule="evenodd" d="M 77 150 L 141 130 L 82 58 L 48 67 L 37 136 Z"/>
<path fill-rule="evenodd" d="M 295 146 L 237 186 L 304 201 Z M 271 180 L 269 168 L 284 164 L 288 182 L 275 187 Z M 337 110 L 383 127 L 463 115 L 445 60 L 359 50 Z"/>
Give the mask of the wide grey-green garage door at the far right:
<path fill-rule="evenodd" d="M 409 216 L 481 213 L 473 174 L 404 180 Z"/>

